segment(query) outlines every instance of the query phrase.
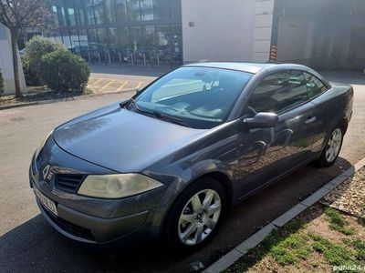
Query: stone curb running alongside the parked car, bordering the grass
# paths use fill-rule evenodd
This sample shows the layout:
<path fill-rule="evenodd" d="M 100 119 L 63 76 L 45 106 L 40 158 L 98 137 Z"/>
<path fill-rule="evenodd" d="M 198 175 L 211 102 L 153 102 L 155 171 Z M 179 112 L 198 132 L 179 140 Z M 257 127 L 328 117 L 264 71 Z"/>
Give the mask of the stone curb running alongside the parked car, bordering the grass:
<path fill-rule="evenodd" d="M 245 253 L 247 253 L 247 251 L 250 248 L 255 248 L 257 245 L 259 245 L 270 234 L 270 232 L 273 229 L 276 229 L 278 227 L 283 227 L 285 224 L 287 224 L 287 222 L 289 222 L 294 217 L 297 217 L 298 214 L 306 210 L 308 207 L 311 207 L 312 205 L 317 203 L 322 197 L 326 196 L 328 192 L 330 192 L 335 187 L 339 186 L 342 182 L 351 177 L 361 167 L 364 166 L 365 166 L 365 157 L 362 158 L 354 166 L 349 167 L 349 169 L 347 169 L 344 173 L 340 174 L 338 177 L 335 177 L 332 180 L 330 180 L 326 185 L 319 188 L 318 191 L 316 191 L 310 197 L 306 198 L 305 200 L 299 202 L 296 206 L 287 210 L 287 212 L 277 217 L 271 223 L 266 225 L 266 227 L 261 228 L 250 238 L 245 239 L 245 241 L 243 241 L 240 245 L 238 245 L 230 252 L 225 254 L 224 257 L 219 258 L 209 268 L 203 270 L 203 273 L 222 272 L 225 269 L 229 268 L 239 258 L 244 257 Z"/>

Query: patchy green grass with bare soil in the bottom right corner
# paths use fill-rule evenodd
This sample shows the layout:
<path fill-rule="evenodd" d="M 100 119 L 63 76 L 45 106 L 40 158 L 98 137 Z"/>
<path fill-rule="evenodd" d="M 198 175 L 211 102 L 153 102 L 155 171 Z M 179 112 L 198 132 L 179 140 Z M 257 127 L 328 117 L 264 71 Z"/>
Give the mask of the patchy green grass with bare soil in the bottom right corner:
<path fill-rule="evenodd" d="M 249 249 L 244 258 L 225 272 L 245 272 L 250 268 L 262 271 L 271 266 L 288 272 L 300 268 L 331 270 L 334 266 L 365 266 L 365 241 L 363 233 L 359 233 L 362 232 L 358 230 L 360 227 L 353 226 L 346 215 L 336 209 L 314 211 L 273 230 L 261 244 Z M 312 221 L 318 222 L 312 224 Z M 338 239 L 332 239 L 334 234 L 328 228 L 338 232 Z M 355 230 L 359 232 L 355 233 Z"/>

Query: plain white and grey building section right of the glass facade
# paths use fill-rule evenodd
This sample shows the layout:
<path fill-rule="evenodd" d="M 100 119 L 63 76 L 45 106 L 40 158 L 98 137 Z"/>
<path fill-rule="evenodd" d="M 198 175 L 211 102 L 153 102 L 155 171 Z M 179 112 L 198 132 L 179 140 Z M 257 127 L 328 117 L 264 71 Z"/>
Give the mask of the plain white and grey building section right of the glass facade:
<path fill-rule="evenodd" d="M 365 67 L 363 0 L 183 0 L 183 61 Z"/>

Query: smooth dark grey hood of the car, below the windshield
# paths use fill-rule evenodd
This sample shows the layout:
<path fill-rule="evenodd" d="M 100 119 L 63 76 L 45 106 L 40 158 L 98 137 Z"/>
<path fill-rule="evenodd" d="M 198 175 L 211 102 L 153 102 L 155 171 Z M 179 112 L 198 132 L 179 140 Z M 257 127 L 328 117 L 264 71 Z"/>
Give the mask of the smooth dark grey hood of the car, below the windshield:
<path fill-rule="evenodd" d="M 58 126 L 52 136 L 73 156 L 118 172 L 137 172 L 192 143 L 204 131 L 116 104 Z"/>

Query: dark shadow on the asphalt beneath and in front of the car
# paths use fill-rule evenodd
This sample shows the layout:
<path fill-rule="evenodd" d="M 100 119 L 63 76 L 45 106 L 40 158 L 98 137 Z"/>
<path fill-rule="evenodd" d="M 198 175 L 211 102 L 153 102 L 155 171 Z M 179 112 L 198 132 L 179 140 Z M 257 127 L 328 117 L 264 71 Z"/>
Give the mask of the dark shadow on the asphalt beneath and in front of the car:
<path fill-rule="evenodd" d="M 0 271 L 189 272 L 194 262 L 207 267 L 349 167 L 340 157 L 332 167 L 302 167 L 234 207 L 214 239 L 191 254 L 145 238 L 90 248 L 64 238 L 37 215 L 0 237 Z"/>

